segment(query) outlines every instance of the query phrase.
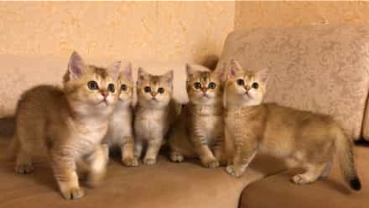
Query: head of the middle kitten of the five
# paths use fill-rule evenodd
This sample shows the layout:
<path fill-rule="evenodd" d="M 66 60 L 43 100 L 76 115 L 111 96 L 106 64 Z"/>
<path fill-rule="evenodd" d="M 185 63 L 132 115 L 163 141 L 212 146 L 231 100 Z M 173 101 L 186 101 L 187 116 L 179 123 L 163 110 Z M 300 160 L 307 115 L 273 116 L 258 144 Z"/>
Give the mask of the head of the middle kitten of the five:
<path fill-rule="evenodd" d="M 138 69 L 138 103 L 148 108 L 163 108 L 169 104 L 173 92 L 173 70 L 158 76 Z"/>

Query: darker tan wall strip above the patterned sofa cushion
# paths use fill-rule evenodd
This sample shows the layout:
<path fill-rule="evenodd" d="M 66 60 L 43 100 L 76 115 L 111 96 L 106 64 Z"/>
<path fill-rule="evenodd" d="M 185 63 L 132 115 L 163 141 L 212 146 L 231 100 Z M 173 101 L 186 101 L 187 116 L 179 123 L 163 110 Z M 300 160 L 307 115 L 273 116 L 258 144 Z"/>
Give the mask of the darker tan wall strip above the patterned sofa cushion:
<path fill-rule="evenodd" d="M 235 29 L 369 22 L 369 1 L 236 1 Z"/>

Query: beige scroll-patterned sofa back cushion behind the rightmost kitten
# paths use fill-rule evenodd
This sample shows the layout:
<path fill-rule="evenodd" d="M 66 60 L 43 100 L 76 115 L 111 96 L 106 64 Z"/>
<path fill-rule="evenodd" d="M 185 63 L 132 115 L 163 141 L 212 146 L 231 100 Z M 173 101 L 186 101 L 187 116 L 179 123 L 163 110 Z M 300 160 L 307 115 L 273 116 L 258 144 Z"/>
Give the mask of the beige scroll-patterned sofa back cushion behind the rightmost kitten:
<path fill-rule="evenodd" d="M 217 67 L 234 58 L 249 70 L 270 68 L 266 102 L 331 114 L 356 140 L 368 97 L 368 51 L 368 25 L 256 28 L 232 32 Z"/>

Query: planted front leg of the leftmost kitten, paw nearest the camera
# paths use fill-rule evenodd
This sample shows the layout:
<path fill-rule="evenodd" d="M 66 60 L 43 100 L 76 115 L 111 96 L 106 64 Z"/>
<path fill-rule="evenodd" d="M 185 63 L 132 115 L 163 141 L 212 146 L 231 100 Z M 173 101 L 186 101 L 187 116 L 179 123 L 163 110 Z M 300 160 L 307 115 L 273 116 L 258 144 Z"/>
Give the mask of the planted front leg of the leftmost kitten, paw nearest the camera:
<path fill-rule="evenodd" d="M 65 199 L 83 197 L 83 189 L 79 187 L 74 155 L 67 150 L 51 151 L 52 169 L 60 191 Z"/>

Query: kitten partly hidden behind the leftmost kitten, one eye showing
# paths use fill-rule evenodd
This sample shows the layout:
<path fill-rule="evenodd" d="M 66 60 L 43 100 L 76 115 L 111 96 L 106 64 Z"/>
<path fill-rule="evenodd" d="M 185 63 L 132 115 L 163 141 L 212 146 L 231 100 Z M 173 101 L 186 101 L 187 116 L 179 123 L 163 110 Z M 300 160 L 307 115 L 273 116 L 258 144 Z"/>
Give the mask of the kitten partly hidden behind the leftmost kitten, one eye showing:
<path fill-rule="evenodd" d="M 129 64 L 119 75 L 119 97 L 113 115 L 110 117 L 109 128 L 104 142 L 111 148 L 120 147 L 121 160 L 126 166 L 137 166 L 134 157 L 133 138 L 133 81 L 132 68 Z"/>

